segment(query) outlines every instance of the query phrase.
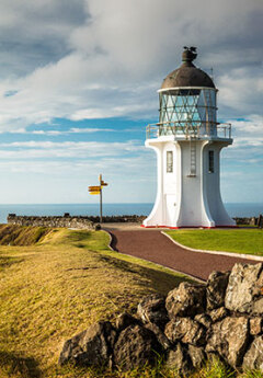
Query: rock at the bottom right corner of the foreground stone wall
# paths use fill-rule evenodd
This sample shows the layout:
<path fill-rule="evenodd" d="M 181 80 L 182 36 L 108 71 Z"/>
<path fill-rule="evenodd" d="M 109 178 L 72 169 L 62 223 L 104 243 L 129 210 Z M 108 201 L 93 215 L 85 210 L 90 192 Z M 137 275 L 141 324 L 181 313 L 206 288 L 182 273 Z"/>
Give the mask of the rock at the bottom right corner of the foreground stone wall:
<path fill-rule="evenodd" d="M 263 371 L 263 336 L 254 339 L 243 358 L 243 369 L 260 369 Z"/>

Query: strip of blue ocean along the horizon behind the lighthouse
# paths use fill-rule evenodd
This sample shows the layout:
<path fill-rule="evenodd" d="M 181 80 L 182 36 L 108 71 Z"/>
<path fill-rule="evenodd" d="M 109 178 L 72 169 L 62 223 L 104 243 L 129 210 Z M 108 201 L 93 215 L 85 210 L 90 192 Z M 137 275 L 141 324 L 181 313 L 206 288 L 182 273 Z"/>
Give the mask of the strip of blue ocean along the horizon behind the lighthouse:
<path fill-rule="evenodd" d="M 103 204 L 103 215 L 149 215 L 153 204 Z M 263 214 L 263 203 L 225 204 L 231 217 L 258 217 Z M 7 222 L 10 213 L 32 216 L 72 216 L 99 215 L 98 204 L 36 204 L 36 205 L 0 205 L 0 224 Z"/>

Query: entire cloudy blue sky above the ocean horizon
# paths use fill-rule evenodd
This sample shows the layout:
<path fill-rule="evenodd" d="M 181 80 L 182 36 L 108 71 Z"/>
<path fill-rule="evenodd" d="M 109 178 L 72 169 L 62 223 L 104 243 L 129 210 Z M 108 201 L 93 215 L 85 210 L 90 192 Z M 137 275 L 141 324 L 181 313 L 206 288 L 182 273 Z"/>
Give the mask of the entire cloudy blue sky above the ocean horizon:
<path fill-rule="evenodd" d="M 0 203 L 152 203 L 163 78 L 197 46 L 232 124 L 228 203 L 263 202 L 262 0 L 1 0 Z M 213 70 L 211 70 L 213 69 Z"/>

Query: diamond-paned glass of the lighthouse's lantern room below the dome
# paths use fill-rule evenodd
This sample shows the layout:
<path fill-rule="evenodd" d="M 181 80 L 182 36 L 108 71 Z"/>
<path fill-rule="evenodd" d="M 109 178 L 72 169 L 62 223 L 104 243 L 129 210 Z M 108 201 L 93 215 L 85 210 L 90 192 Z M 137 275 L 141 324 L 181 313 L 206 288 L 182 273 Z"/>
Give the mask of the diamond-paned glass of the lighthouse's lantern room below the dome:
<path fill-rule="evenodd" d="M 198 134 L 216 134 L 216 90 L 211 88 L 179 88 L 160 91 L 160 118 L 163 133 L 172 127 L 184 133 L 185 128 Z M 168 126 L 168 128 L 165 127 Z M 168 131 L 170 129 L 170 131 Z"/>

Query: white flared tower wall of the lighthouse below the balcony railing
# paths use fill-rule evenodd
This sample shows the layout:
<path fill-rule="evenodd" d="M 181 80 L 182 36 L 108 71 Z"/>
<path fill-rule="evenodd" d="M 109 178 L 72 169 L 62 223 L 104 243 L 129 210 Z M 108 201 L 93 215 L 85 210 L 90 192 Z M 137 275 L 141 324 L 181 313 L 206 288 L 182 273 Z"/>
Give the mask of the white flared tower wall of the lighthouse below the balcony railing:
<path fill-rule="evenodd" d="M 228 142 L 197 140 L 196 175 L 191 173 L 191 144 L 173 137 L 148 139 L 158 159 L 156 204 L 146 227 L 233 226 L 220 196 L 219 153 Z M 208 172 L 208 151 L 215 151 L 215 171 Z M 167 172 L 167 151 L 173 151 L 173 172 Z"/>

